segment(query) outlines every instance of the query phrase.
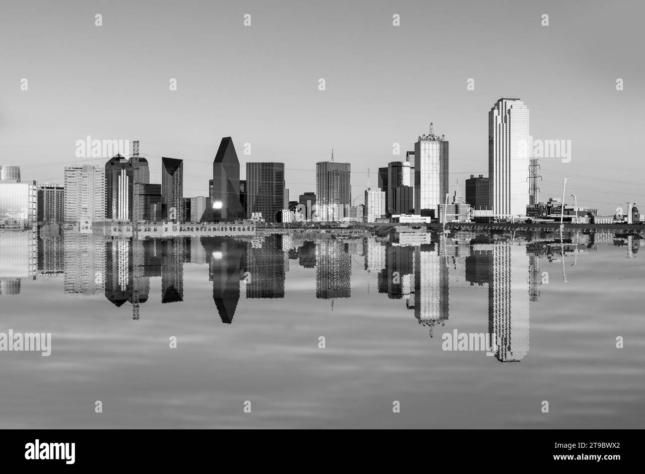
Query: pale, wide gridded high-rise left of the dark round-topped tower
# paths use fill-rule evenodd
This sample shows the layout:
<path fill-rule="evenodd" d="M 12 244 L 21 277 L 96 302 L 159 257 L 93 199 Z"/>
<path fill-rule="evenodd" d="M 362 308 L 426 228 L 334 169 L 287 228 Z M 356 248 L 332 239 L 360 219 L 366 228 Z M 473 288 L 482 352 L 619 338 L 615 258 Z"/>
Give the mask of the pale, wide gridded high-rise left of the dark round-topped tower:
<path fill-rule="evenodd" d="M 105 220 L 105 168 L 65 166 L 65 221 Z"/>

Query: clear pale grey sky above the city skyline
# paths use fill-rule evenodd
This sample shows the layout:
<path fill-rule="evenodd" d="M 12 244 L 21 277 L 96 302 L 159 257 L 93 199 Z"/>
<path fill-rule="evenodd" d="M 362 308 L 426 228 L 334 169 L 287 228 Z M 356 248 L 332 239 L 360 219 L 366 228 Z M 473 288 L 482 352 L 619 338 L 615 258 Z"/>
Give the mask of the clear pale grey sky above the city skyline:
<path fill-rule="evenodd" d="M 161 156 L 179 158 L 184 197 L 208 195 L 230 136 L 242 178 L 247 161 L 283 162 L 294 200 L 333 148 L 362 197 L 432 122 L 450 142 L 450 192 L 464 193 L 488 175 L 490 108 L 519 97 L 535 139 L 571 141 L 569 163 L 540 159 L 540 201 L 570 176 L 580 206 L 645 212 L 643 14 L 639 1 L 7 0 L 0 164 L 62 183 L 66 164 L 107 161 L 77 158 L 77 140 L 139 140 L 152 183 Z"/>

